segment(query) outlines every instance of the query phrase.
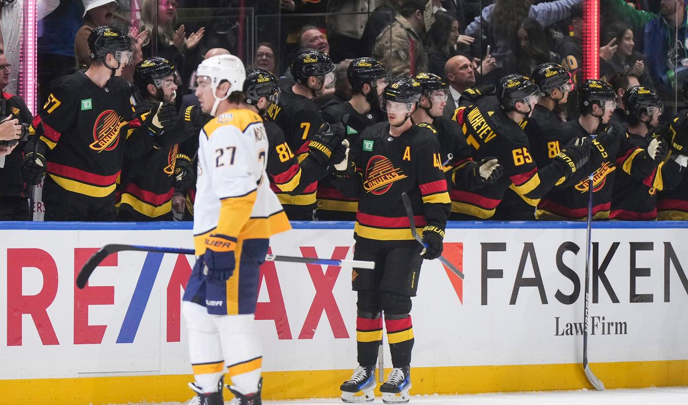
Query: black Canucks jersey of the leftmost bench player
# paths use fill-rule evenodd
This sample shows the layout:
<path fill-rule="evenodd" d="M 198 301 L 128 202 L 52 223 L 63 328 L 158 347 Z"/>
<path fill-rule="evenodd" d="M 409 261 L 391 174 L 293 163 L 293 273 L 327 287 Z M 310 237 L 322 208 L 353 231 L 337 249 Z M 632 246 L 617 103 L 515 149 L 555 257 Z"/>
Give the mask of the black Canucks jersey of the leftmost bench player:
<path fill-rule="evenodd" d="M 47 175 L 60 187 L 91 197 L 110 196 L 122 169 L 125 142 L 140 122 L 131 123 L 129 85 L 112 77 L 98 87 L 83 72 L 52 83 L 50 96 L 34 118 L 39 153 Z"/>

